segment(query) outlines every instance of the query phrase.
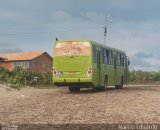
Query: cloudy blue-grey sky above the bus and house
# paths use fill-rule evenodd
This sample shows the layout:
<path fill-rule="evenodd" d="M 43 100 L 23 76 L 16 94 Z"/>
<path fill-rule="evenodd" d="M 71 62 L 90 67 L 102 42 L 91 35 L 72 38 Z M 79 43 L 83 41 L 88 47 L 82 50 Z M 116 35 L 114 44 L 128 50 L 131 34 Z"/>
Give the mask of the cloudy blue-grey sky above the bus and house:
<path fill-rule="evenodd" d="M 160 0 L 0 0 L 0 53 L 46 51 L 59 40 L 124 50 L 131 70 L 160 71 Z"/>

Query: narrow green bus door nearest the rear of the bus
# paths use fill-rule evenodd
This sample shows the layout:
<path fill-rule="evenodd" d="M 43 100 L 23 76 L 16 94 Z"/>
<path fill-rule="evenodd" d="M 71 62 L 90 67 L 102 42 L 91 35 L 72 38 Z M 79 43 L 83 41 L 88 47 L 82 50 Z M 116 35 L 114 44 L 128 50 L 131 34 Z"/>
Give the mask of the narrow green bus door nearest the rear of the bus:
<path fill-rule="evenodd" d="M 100 51 L 96 51 L 96 59 L 97 59 L 97 85 L 100 86 L 100 70 L 101 70 Z"/>

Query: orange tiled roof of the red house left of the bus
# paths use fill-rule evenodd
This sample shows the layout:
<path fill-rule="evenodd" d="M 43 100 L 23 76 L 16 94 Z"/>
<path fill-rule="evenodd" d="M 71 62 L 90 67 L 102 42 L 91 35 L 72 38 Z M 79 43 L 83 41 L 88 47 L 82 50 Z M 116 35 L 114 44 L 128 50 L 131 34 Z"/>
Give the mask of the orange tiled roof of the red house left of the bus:
<path fill-rule="evenodd" d="M 32 60 L 37 58 L 46 52 L 22 52 L 22 53 L 10 53 L 10 54 L 0 54 L 7 61 L 19 61 L 19 60 Z"/>

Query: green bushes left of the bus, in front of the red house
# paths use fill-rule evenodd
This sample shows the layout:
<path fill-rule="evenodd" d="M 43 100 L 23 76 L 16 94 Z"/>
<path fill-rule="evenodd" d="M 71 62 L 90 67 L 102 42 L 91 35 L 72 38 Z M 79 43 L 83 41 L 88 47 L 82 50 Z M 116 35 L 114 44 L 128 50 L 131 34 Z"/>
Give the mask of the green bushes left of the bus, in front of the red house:
<path fill-rule="evenodd" d="M 50 71 L 47 73 L 37 73 L 20 67 L 12 71 L 0 67 L 0 82 L 9 84 L 9 86 L 17 89 L 23 86 L 53 86 L 52 73 Z"/>

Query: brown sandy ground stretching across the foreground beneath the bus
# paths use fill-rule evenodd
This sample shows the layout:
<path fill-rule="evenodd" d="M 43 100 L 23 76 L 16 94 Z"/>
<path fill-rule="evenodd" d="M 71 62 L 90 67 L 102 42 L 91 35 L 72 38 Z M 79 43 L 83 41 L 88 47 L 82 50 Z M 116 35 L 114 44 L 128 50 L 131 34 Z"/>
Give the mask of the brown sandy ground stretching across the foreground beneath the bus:
<path fill-rule="evenodd" d="M 160 86 L 70 93 L 67 88 L 15 90 L 0 85 L 0 123 L 160 123 Z"/>

